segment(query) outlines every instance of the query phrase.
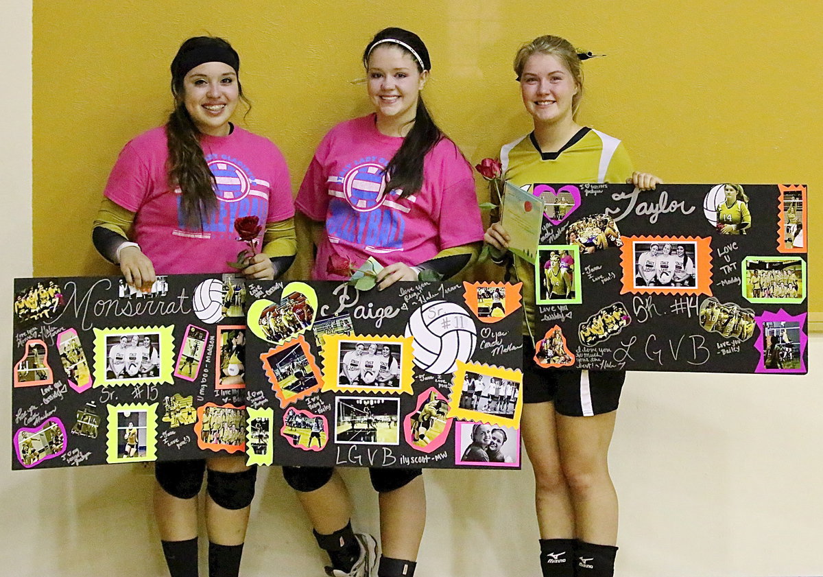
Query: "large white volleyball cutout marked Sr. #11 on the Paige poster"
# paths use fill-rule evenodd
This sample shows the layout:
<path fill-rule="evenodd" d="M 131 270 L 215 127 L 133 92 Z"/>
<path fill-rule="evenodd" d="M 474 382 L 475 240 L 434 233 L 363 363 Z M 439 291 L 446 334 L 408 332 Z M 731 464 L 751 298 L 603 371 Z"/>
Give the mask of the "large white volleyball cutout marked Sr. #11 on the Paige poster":
<path fill-rule="evenodd" d="M 460 305 L 432 300 L 412 313 L 406 336 L 414 337 L 414 364 L 432 375 L 453 373 L 477 345 L 477 328 Z"/>

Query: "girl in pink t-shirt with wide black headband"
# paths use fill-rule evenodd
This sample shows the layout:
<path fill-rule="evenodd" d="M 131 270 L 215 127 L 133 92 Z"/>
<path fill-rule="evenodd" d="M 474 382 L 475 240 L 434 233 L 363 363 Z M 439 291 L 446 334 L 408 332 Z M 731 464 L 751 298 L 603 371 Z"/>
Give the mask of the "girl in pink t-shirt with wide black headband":
<path fill-rule="evenodd" d="M 109 175 L 92 239 L 129 285 L 150 291 L 160 274 L 233 272 L 235 219 L 264 225 L 247 278 L 271 280 L 296 252 L 286 162 L 266 138 L 230 123 L 239 57 L 220 38 L 186 40 L 171 63 L 174 111 L 134 138 Z M 209 575 L 238 575 L 256 468 L 243 456 L 156 463 L 155 513 L 172 577 L 198 575 L 198 500 L 207 470 Z"/>

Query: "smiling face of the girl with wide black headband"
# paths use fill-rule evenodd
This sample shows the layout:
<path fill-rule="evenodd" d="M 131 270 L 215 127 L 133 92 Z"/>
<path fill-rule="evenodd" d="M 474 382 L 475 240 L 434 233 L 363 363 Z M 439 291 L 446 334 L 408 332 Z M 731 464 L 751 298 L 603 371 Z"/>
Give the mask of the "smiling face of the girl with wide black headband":
<path fill-rule="evenodd" d="M 184 78 L 182 100 L 201 133 L 226 136 L 239 100 L 237 72 L 221 62 L 193 67 Z"/>

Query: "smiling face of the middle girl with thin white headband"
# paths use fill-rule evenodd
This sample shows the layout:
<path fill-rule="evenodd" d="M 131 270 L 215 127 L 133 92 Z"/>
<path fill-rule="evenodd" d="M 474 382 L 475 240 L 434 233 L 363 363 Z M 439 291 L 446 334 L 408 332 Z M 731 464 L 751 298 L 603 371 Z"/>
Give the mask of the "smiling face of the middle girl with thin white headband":
<path fill-rule="evenodd" d="M 369 56 L 366 77 L 379 124 L 400 127 L 415 119 L 429 72 L 420 71 L 412 54 L 397 44 L 381 44 Z"/>

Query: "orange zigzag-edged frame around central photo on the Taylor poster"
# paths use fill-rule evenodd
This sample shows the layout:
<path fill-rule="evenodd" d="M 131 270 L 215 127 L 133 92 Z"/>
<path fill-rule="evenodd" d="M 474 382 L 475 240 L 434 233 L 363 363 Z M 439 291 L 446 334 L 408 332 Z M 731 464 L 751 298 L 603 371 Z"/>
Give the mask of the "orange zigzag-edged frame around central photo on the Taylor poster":
<path fill-rule="evenodd" d="M 621 291 L 633 294 L 657 293 L 660 295 L 712 295 L 712 240 L 702 236 L 621 236 Z M 693 243 L 695 244 L 695 286 L 635 286 L 636 243 Z"/>

